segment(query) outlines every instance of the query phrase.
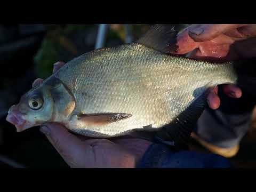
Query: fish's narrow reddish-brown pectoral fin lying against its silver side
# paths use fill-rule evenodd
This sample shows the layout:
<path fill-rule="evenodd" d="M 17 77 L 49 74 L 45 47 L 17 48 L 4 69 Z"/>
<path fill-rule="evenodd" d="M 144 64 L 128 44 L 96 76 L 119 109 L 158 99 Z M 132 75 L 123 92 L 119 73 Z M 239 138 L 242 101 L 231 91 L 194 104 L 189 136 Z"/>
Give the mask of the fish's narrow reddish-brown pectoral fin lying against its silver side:
<path fill-rule="evenodd" d="M 121 121 L 122 119 L 126 119 L 131 117 L 131 114 L 125 113 L 100 113 L 100 114 L 81 114 L 77 115 L 79 121 L 84 121 L 87 124 L 98 124 L 103 125 L 107 123 L 113 123 L 117 121 Z"/>

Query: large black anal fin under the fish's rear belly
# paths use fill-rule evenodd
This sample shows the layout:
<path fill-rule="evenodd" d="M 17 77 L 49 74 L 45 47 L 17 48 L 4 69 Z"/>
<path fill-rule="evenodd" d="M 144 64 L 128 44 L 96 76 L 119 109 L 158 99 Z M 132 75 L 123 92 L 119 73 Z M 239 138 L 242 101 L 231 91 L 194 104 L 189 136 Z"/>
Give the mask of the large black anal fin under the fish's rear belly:
<path fill-rule="evenodd" d="M 190 134 L 206 107 L 207 95 L 208 91 L 206 90 L 177 118 L 157 131 L 155 138 L 171 146 L 174 150 L 187 150 Z"/>

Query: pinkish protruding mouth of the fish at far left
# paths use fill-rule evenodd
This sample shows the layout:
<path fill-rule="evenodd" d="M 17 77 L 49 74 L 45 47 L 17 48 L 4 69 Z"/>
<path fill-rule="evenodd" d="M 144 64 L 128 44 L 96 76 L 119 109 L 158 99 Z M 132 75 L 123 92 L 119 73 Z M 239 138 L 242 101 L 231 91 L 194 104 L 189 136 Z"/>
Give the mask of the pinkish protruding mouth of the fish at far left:
<path fill-rule="evenodd" d="M 6 121 L 15 125 L 17 132 L 24 131 L 32 126 L 18 110 L 9 110 Z"/>

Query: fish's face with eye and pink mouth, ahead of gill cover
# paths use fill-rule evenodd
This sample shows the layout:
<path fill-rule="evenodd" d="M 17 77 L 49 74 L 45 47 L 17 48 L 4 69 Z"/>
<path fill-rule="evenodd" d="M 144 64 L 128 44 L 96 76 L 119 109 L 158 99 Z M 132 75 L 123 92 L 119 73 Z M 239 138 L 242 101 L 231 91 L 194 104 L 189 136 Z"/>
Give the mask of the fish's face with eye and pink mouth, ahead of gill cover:
<path fill-rule="evenodd" d="M 47 86 L 37 86 L 22 95 L 17 105 L 11 106 L 6 121 L 12 123 L 21 132 L 33 126 L 51 120 L 53 99 Z"/>

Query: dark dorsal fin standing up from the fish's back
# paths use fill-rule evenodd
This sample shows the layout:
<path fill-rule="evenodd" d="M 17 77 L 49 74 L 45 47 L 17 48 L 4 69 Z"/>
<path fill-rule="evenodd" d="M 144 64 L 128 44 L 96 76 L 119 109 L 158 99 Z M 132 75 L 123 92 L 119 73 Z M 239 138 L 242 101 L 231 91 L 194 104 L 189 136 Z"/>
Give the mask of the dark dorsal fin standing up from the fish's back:
<path fill-rule="evenodd" d="M 178 32 L 186 25 L 157 24 L 152 26 L 145 35 L 138 39 L 137 43 L 145 45 L 156 51 L 170 53 L 172 45 L 175 45 Z"/>

